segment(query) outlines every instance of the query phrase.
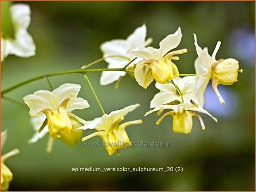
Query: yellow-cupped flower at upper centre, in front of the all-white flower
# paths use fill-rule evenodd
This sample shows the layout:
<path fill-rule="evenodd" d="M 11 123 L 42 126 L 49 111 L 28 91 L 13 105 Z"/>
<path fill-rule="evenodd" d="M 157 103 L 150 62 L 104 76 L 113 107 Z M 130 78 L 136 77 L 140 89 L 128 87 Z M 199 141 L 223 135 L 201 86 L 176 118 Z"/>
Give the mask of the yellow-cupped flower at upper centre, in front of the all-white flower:
<path fill-rule="evenodd" d="M 187 49 L 172 51 L 168 54 L 167 52 L 176 48 L 181 38 L 181 29 L 178 28 L 174 34 L 168 35 L 159 43 L 159 49 L 146 47 L 130 52 L 135 57 L 145 59 L 137 64 L 134 71 L 135 79 L 139 85 L 146 89 L 154 79 L 158 83 L 165 84 L 168 80 L 179 76 L 178 68 L 172 59 L 178 60 L 179 57 L 174 57 L 174 55 L 186 53 Z"/>

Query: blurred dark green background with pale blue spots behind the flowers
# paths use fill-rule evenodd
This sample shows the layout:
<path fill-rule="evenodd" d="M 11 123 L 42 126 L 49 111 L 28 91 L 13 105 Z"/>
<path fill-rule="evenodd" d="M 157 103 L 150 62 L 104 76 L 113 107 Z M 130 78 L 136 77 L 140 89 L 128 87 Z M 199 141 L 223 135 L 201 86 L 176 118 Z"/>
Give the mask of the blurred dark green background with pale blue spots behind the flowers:
<path fill-rule="evenodd" d="M 2 2 L 1 2 L 2 3 Z M 14 2 L 16 3 L 16 2 Z M 20 2 L 19 2 L 20 3 Z M 34 131 L 29 123 L 29 109 L 1 100 L 1 129 L 8 129 L 2 154 L 14 148 L 20 154 L 6 161 L 14 174 L 11 190 L 255 190 L 255 2 L 23 2 L 31 7 L 29 33 L 36 44 L 36 56 L 7 57 L 2 71 L 1 88 L 46 73 L 79 69 L 100 57 L 101 43 L 125 39 L 143 23 L 153 47 L 180 26 L 187 48 L 176 62 L 180 73 L 194 73 L 193 33 L 199 45 L 211 54 L 218 40 L 222 42 L 219 58 L 236 58 L 240 68 L 238 82 L 219 86 L 226 104 L 221 106 L 207 89 L 205 108 L 218 118 L 215 123 L 202 114 L 206 130 L 194 118 L 192 133 L 173 133 L 172 117 L 156 126 L 156 113 L 144 117 L 149 103 L 158 92 L 152 83 L 146 90 L 125 76 L 118 90 L 115 83 L 100 86 L 100 73 L 89 78 L 106 113 L 139 103 L 125 121 L 143 119 L 141 125 L 127 128 L 133 142 L 170 142 L 173 147 L 129 147 L 120 156 L 108 156 L 103 147 L 74 147 L 56 140 L 52 154 L 45 152 L 48 138 L 29 145 Z M 101 62 L 93 68 L 105 68 Z M 101 116 L 91 90 L 81 74 L 50 77 L 54 88 L 63 83 L 79 83 L 79 97 L 90 108 L 74 113 L 86 120 Z M 43 79 L 8 93 L 19 102 L 36 90 L 50 90 Z M 91 131 L 84 131 L 89 135 Z M 89 142 L 102 142 L 94 137 Z M 182 166 L 183 173 L 96 173 L 72 172 L 77 167 L 155 167 Z"/>

